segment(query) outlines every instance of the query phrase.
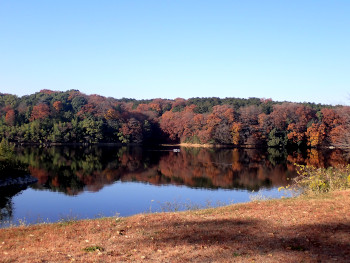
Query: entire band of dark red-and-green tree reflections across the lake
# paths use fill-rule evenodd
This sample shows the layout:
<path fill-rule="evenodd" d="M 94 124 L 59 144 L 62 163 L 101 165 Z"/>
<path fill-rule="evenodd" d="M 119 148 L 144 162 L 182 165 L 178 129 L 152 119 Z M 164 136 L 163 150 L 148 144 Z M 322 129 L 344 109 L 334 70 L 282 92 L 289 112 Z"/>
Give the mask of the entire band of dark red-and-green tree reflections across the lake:
<path fill-rule="evenodd" d="M 346 163 L 339 151 L 314 149 L 287 154 L 279 149 L 184 148 L 177 153 L 140 147 L 27 147 L 17 156 L 39 180 L 36 188 L 69 195 L 98 191 L 118 180 L 258 190 L 287 185 L 287 178 L 295 176 L 294 163 Z"/>

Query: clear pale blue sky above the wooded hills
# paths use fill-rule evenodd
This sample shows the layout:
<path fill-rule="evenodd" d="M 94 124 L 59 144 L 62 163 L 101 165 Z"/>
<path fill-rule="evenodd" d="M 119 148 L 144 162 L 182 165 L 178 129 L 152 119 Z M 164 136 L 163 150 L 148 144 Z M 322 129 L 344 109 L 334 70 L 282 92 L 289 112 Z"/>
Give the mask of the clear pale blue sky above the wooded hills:
<path fill-rule="evenodd" d="M 350 105 L 349 0 L 0 0 L 0 92 Z"/>

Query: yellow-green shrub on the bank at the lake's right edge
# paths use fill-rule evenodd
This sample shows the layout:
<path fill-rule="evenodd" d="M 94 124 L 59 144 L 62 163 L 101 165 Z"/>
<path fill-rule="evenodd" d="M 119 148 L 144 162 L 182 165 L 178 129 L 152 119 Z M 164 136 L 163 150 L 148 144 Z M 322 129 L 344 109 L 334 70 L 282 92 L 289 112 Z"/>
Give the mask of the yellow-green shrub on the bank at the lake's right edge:
<path fill-rule="evenodd" d="M 298 177 L 294 187 L 304 194 L 319 194 L 350 188 L 350 165 L 328 168 L 295 164 Z"/>

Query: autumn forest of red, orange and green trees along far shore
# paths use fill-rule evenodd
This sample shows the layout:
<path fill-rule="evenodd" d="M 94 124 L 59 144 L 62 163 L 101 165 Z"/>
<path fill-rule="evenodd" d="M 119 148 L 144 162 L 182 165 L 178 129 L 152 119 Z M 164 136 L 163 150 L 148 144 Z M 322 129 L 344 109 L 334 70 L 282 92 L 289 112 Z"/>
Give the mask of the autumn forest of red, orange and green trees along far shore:
<path fill-rule="evenodd" d="M 348 148 L 350 107 L 262 98 L 115 99 L 78 90 L 0 93 L 2 139 Z"/>

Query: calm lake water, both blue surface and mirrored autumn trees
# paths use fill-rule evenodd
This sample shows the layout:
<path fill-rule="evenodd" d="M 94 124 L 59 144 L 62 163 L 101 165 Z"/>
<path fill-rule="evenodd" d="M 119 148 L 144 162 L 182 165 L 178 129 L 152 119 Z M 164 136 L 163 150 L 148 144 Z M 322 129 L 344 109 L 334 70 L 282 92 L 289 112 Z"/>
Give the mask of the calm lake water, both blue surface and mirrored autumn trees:
<path fill-rule="evenodd" d="M 340 151 L 172 147 L 25 147 L 1 176 L 30 174 L 25 189 L 0 188 L 0 225 L 128 216 L 279 198 L 294 163 L 345 164 Z"/>

